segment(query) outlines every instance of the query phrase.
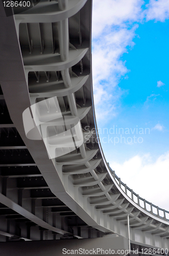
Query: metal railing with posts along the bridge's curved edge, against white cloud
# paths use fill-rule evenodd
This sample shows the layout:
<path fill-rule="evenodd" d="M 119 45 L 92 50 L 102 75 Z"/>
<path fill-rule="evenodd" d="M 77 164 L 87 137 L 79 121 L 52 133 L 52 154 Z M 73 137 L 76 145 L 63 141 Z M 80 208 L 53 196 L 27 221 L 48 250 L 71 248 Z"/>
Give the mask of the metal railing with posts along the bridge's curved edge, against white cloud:
<path fill-rule="evenodd" d="M 125 194 L 133 201 L 135 202 L 138 206 L 142 207 L 144 210 L 150 212 L 152 215 L 163 219 L 165 221 L 169 221 L 169 211 L 162 209 L 149 201 L 143 199 L 140 197 L 138 194 L 136 194 L 131 188 L 129 188 L 125 183 L 121 181 L 121 178 L 119 178 L 116 174 L 115 171 L 112 170 L 109 167 L 110 171 L 112 172 L 114 179 L 117 181 L 119 186 L 123 189 Z"/>

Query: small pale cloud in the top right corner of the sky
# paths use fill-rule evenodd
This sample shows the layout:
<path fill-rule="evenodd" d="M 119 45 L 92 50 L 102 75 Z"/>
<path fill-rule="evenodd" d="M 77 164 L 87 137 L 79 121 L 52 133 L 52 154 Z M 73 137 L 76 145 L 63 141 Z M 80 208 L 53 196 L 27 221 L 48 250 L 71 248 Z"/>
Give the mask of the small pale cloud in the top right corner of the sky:
<path fill-rule="evenodd" d="M 169 18 L 169 0 L 150 0 L 146 11 L 147 20 L 155 19 L 156 22 L 164 22 Z"/>

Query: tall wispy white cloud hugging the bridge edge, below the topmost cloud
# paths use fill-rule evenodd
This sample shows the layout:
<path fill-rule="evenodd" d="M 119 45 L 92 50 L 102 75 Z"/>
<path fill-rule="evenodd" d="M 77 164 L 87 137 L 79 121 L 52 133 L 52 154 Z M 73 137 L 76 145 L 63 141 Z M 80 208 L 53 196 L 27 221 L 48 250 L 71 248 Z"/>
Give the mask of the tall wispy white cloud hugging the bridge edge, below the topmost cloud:
<path fill-rule="evenodd" d="M 135 29 L 116 29 L 93 41 L 93 86 L 97 120 L 115 116 L 116 105 L 123 92 L 118 88 L 119 79 L 127 73 L 120 56 L 133 46 Z"/>

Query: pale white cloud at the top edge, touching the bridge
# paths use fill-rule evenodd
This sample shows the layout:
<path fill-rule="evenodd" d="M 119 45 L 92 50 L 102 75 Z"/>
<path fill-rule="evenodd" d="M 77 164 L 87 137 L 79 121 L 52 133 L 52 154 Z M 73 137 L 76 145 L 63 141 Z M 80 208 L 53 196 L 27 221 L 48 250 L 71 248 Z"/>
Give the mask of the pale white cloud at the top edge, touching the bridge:
<path fill-rule="evenodd" d="M 125 22 L 138 22 L 142 18 L 142 0 L 94 0 L 93 38 L 111 26 L 125 26 Z"/>

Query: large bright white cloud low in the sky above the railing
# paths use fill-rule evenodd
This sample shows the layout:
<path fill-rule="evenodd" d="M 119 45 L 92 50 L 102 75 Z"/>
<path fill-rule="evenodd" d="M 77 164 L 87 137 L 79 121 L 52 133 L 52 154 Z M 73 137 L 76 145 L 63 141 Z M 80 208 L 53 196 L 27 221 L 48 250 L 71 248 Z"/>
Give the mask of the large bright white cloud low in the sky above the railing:
<path fill-rule="evenodd" d="M 169 210 L 167 181 L 169 180 L 169 152 L 152 162 L 151 156 L 136 155 L 124 163 L 110 162 L 122 182 L 149 202 Z M 166 182 L 165 182 L 166 181 Z"/>

